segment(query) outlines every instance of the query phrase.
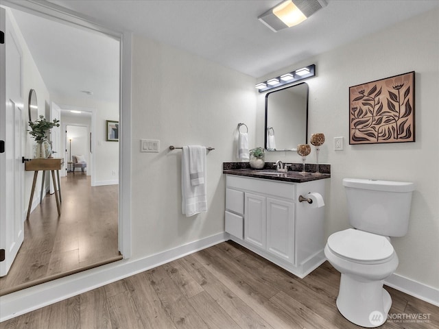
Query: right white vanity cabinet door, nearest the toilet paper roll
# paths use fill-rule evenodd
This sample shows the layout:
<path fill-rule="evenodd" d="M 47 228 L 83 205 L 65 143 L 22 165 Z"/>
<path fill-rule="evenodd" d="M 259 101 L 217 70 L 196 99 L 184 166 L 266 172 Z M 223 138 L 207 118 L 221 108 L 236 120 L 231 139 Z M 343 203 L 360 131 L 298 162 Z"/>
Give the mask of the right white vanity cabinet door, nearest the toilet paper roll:
<path fill-rule="evenodd" d="M 294 203 L 267 198 L 266 250 L 294 263 Z"/>

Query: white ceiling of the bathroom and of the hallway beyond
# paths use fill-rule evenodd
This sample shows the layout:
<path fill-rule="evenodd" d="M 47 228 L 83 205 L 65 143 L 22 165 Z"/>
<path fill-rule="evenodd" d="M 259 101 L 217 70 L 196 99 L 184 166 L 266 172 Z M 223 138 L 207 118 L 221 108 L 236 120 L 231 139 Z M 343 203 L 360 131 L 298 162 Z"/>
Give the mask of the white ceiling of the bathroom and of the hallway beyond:
<path fill-rule="evenodd" d="M 272 32 L 257 17 L 281 0 L 50 2 L 111 29 L 158 40 L 252 77 L 262 77 L 439 6 L 437 0 L 327 0 L 327 7 L 300 25 Z M 112 69 L 119 60 L 115 40 L 86 36 L 83 30 L 60 27 L 54 21 L 40 23 L 25 15 L 19 14 L 17 21 L 50 92 L 77 95 L 78 90 L 91 90 L 95 95 L 82 93 L 81 97 L 114 99 L 119 74 Z"/>

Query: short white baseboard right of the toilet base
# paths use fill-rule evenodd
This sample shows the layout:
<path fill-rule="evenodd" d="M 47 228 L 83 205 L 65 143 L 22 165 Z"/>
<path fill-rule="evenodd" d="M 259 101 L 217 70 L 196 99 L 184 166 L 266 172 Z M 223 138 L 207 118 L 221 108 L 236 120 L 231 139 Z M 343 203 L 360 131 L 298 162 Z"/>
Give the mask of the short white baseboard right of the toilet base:
<path fill-rule="evenodd" d="M 405 278 L 396 273 L 393 273 L 389 278 L 384 280 L 384 284 L 403 293 L 407 293 L 407 295 L 439 306 L 439 289 L 429 287 L 426 284 Z"/>

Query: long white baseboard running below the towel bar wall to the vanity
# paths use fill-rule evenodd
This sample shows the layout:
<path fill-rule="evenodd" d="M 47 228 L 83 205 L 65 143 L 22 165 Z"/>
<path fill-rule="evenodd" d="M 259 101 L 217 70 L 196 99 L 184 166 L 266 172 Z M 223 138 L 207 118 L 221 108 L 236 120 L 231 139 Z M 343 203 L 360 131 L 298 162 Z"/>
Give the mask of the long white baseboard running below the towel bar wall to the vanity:
<path fill-rule="evenodd" d="M 0 322 L 147 271 L 226 241 L 222 232 L 141 259 L 124 259 L 0 297 Z"/>

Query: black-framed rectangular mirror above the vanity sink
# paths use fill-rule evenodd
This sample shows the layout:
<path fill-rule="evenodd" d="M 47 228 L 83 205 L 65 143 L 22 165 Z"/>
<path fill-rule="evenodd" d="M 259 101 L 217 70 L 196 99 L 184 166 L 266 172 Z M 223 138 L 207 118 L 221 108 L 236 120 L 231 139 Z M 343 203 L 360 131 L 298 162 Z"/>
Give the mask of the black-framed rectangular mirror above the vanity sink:
<path fill-rule="evenodd" d="M 308 84 L 302 82 L 265 95 L 265 149 L 296 151 L 308 142 Z"/>

